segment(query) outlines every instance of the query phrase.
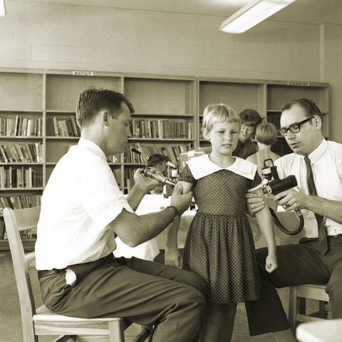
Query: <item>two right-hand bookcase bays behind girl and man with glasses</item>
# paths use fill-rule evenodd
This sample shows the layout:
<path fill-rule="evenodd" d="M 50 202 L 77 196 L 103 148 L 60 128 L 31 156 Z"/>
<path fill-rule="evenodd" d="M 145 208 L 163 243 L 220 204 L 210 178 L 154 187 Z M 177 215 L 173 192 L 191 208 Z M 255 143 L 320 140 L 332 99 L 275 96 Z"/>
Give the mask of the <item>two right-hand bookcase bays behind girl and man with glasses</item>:
<path fill-rule="evenodd" d="M 323 135 L 329 138 L 328 83 L 199 78 L 198 89 L 199 124 L 204 108 L 209 103 L 224 102 L 238 113 L 246 108 L 253 108 L 265 122 L 280 128 L 281 105 L 295 98 L 310 98 L 323 113 Z M 199 139 L 199 144 L 208 145 L 202 139 Z M 272 146 L 272 151 L 278 155 L 292 152 L 281 135 Z"/>

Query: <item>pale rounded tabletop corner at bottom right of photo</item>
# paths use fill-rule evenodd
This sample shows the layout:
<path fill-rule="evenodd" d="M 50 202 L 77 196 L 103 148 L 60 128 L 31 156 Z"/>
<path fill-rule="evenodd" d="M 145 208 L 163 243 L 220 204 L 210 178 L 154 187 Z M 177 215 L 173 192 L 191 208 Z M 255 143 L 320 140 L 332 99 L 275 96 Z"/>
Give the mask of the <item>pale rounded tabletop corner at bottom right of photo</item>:
<path fill-rule="evenodd" d="M 296 338 L 299 342 L 342 341 L 342 318 L 301 323 Z"/>

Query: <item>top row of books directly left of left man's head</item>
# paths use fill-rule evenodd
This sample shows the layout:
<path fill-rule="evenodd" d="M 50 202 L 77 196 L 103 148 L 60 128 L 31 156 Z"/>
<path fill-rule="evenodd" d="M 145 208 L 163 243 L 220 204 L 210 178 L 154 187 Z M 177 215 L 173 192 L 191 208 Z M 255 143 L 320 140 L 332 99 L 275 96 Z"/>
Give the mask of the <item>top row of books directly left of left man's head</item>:
<path fill-rule="evenodd" d="M 68 118 L 54 116 L 46 119 L 46 135 L 48 137 L 81 137 L 81 129 L 74 115 Z"/>

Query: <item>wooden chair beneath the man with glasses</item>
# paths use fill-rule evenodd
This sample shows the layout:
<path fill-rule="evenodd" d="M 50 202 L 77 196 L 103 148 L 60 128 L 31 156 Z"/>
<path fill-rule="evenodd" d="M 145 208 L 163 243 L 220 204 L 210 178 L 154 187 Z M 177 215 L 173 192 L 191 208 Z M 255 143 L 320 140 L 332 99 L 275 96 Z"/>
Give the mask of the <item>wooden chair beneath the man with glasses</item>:
<path fill-rule="evenodd" d="M 318 301 L 318 311 L 306 314 L 306 299 Z M 289 291 L 289 324 L 295 333 L 299 322 L 320 321 L 328 318 L 329 296 L 326 285 L 298 285 L 291 286 Z"/>

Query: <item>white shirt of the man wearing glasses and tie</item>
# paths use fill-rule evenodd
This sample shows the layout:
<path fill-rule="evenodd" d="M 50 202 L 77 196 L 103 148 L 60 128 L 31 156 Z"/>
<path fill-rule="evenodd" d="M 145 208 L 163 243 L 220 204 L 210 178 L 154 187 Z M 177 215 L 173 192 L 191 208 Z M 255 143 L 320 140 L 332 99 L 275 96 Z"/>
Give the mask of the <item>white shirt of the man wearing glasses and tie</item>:
<path fill-rule="evenodd" d="M 311 169 L 314 175 L 316 193 L 318 197 L 342 201 L 342 144 L 323 140 L 316 150 L 310 153 Z M 291 153 L 284 155 L 274 162 L 279 177 L 282 179 L 295 175 L 299 190 L 309 195 L 306 181 L 306 165 L 304 156 Z M 304 216 L 304 229 L 306 237 L 318 237 L 316 217 L 309 210 L 301 210 Z M 329 236 L 342 234 L 342 224 L 325 218 L 324 224 Z"/>

